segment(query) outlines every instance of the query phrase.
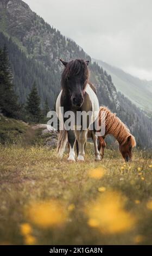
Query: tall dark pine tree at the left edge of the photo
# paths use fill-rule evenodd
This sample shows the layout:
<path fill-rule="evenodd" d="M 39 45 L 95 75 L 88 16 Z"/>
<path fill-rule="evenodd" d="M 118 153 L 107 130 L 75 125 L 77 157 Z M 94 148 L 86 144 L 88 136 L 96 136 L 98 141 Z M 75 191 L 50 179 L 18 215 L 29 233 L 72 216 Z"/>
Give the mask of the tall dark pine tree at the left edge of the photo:
<path fill-rule="evenodd" d="M 17 117 L 21 106 L 14 92 L 12 79 L 8 51 L 4 46 L 3 50 L 0 50 L 0 111 L 8 117 Z"/>

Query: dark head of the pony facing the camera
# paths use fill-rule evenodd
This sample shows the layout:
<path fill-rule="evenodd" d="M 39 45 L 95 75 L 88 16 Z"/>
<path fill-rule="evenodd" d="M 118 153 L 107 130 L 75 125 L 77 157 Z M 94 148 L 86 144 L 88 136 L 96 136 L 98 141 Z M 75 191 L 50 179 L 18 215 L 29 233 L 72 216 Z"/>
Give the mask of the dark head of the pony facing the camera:
<path fill-rule="evenodd" d="M 65 62 L 60 59 L 65 66 L 61 78 L 61 87 L 66 95 L 71 99 L 71 105 L 74 108 L 80 108 L 84 102 L 85 87 L 88 82 L 88 60 L 75 59 Z"/>

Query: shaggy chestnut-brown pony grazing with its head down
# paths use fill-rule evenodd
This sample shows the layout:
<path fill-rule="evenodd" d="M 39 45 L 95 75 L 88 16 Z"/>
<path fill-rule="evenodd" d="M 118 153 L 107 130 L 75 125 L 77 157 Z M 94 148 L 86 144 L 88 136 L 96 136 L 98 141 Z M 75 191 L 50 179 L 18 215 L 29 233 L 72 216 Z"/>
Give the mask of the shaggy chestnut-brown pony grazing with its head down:
<path fill-rule="evenodd" d="M 101 124 L 102 113 L 105 113 L 105 135 L 98 136 L 98 150 L 102 158 L 104 157 L 104 149 L 106 143 L 104 138 L 107 135 L 113 135 L 119 143 L 119 150 L 126 162 L 132 160 L 132 148 L 136 147 L 135 137 L 131 135 L 128 127 L 112 113 L 107 107 L 100 107 L 99 125 Z"/>

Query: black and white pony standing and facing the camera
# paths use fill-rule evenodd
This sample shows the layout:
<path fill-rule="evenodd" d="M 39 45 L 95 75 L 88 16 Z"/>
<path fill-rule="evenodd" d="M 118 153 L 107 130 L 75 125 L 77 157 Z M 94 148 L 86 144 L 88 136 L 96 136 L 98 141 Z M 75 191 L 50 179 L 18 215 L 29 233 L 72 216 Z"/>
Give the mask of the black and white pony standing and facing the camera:
<path fill-rule="evenodd" d="M 60 59 L 61 60 L 61 59 Z M 68 160 L 75 161 L 74 144 L 78 142 L 78 161 L 84 161 L 84 145 L 88 129 L 97 120 L 99 102 L 96 89 L 88 82 L 88 63 L 83 59 L 70 62 L 61 60 L 65 69 L 61 77 L 61 92 L 56 100 L 56 114 L 62 124 L 58 139 L 58 156 L 62 157 L 67 142 L 69 143 Z M 62 111 L 60 110 L 62 109 Z M 69 113 L 72 112 L 71 124 L 67 124 Z M 85 115 L 77 115 L 77 114 Z M 88 114 L 89 113 L 89 114 Z M 86 119 L 84 121 L 84 119 Z M 73 124 L 72 124 L 73 123 Z M 100 160 L 97 147 L 96 131 L 92 130 L 92 139 L 95 149 L 95 160 Z"/>

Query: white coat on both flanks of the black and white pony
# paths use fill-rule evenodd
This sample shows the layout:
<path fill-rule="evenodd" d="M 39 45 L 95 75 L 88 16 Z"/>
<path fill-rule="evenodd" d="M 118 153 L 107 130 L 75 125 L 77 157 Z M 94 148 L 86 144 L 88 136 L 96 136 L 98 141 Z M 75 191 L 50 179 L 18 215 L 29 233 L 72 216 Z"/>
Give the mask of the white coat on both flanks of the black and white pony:
<path fill-rule="evenodd" d="M 91 120 L 90 120 L 90 125 L 94 123 L 94 121 L 97 119 L 98 114 L 99 114 L 99 102 L 96 93 L 92 90 L 89 84 L 86 85 L 85 92 L 88 94 L 91 100 L 92 104 L 92 115 L 91 115 Z M 56 114 L 60 120 L 60 122 L 63 122 L 63 117 L 61 114 L 61 95 L 62 95 L 62 90 L 60 94 L 58 95 L 58 98 L 56 100 Z"/>

